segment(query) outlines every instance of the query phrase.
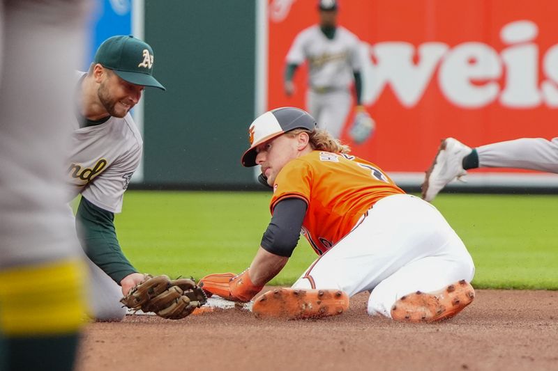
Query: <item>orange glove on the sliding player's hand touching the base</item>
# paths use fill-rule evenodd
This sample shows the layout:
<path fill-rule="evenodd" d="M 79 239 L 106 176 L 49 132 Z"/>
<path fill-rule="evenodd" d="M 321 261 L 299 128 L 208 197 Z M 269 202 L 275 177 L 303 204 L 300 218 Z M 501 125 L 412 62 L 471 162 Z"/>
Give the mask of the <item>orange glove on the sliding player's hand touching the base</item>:
<path fill-rule="evenodd" d="M 205 276 L 198 283 L 207 294 L 207 297 L 216 294 L 223 299 L 231 301 L 250 301 L 262 291 L 264 286 L 256 286 L 250 280 L 248 269 L 235 276 L 232 273 L 217 273 Z"/>

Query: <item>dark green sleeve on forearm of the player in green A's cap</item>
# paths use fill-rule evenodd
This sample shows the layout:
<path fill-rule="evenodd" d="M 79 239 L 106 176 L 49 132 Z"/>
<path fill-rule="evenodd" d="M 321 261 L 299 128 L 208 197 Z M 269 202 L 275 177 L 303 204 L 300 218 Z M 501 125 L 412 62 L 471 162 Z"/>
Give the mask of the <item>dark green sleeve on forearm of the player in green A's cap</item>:
<path fill-rule="evenodd" d="M 75 228 L 86 255 L 116 283 L 137 270 L 124 256 L 114 228 L 114 214 L 82 197 L 75 214 Z"/>

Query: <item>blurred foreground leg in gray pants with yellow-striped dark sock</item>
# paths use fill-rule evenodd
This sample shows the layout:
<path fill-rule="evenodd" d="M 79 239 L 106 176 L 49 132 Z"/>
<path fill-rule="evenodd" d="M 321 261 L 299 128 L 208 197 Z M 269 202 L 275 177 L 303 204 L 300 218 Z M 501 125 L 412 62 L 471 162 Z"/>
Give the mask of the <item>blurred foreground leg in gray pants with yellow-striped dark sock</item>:
<path fill-rule="evenodd" d="M 68 213 L 89 0 L 0 1 L 0 370 L 71 370 L 85 310 Z"/>

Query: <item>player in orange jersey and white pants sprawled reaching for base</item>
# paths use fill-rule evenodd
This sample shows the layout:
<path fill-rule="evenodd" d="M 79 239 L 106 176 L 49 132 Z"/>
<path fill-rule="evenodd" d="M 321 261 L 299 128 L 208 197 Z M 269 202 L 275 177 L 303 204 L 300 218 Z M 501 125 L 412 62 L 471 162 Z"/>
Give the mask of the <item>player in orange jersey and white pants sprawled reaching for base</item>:
<path fill-rule="evenodd" d="M 250 125 L 242 164 L 261 166 L 273 187 L 271 222 L 246 271 L 210 274 L 200 286 L 250 301 L 285 266 L 302 231 L 319 258 L 291 288 L 258 297 L 255 315 L 336 315 L 363 291 L 371 292 L 370 315 L 400 321 L 439 321 L 469 305 L 473 261 L 442 214 L 316 125 L 293 107 Z"/>

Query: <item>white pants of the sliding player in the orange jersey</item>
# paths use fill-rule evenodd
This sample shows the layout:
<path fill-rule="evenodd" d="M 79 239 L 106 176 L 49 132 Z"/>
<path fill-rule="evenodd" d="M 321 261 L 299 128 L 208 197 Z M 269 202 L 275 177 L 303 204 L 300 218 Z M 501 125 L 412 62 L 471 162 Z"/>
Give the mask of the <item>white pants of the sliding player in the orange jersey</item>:
<path fill-rule="evenodd" d="M 415 196 L 393 195 L 368 210 L 293 287 L 343 290 L 349 297 L 370 291 L 368 314 L 391 317 L 400 297 L 470 282 L 474 271 L 467 248 L 434 206 Z"/>

